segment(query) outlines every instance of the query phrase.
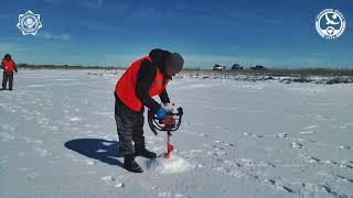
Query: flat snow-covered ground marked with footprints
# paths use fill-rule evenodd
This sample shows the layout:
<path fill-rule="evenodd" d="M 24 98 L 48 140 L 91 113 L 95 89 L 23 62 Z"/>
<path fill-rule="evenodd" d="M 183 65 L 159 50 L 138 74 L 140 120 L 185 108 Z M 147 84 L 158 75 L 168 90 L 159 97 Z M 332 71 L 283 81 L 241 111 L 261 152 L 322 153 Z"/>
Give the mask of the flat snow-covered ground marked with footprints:
<path fill-rule="evenodd" d="M 0 91 L 1 198 L 353 197 L 351 84 L 175 79 L 178 151 L 138 157 L 145 173 L 132 174 L 117 150 L 118 76 L 20 70 Z M 164 134 L 145 131 L 162 154 Z"/>

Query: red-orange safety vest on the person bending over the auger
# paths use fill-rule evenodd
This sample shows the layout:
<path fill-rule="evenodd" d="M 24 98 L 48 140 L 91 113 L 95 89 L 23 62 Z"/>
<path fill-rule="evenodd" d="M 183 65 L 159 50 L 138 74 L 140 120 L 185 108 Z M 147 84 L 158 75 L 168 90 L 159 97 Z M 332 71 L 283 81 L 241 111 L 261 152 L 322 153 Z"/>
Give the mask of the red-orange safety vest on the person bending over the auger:
<path fill-rule="evenodd" d="M 139 73 L 143 59 L 152 62 L 149 56 L 140 58 L 131 64 L 131 66 L 124 73 L 118 80 L 115 91 L 121 102 L 133 111 L 140 111 L 142 108 L 141 100 L 136 96 L 137 75 Z M 150 97 L 162 94 L 170 79 L 167 79 L 163 85 L 163 74 L 157 68 L 154 81 L 152 82 L 148 94 Z"/>

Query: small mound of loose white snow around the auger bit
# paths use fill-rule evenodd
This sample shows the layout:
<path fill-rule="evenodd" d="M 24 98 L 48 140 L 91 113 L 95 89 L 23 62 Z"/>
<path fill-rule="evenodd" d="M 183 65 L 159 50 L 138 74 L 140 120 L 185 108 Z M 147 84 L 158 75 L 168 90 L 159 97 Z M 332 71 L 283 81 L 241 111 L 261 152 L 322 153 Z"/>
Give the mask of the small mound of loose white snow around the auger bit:
<path fill-rule="evenodd" d="M 169 158 L 159 156 L 154 160 L 148 160 L 146 166 L 148 169 L 156 169 L 162 174 L 183 173 L 192 167 L 189 162 L 175 154 L 172 154 Z"/>

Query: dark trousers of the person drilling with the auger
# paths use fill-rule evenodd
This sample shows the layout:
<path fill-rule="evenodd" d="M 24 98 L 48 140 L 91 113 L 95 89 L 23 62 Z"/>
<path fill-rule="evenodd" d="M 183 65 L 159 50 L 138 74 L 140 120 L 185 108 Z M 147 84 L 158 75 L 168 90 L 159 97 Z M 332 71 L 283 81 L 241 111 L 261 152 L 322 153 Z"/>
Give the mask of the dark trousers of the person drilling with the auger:
<path fill-rule="evenodd" d="M 130 110 L 116 97 L 115 121 L 119 135 L 120 154 L 131 155 L 135 154 L 135 150 L 145 147 L 143 111 L 143 108 L 140 112 Z"/>

